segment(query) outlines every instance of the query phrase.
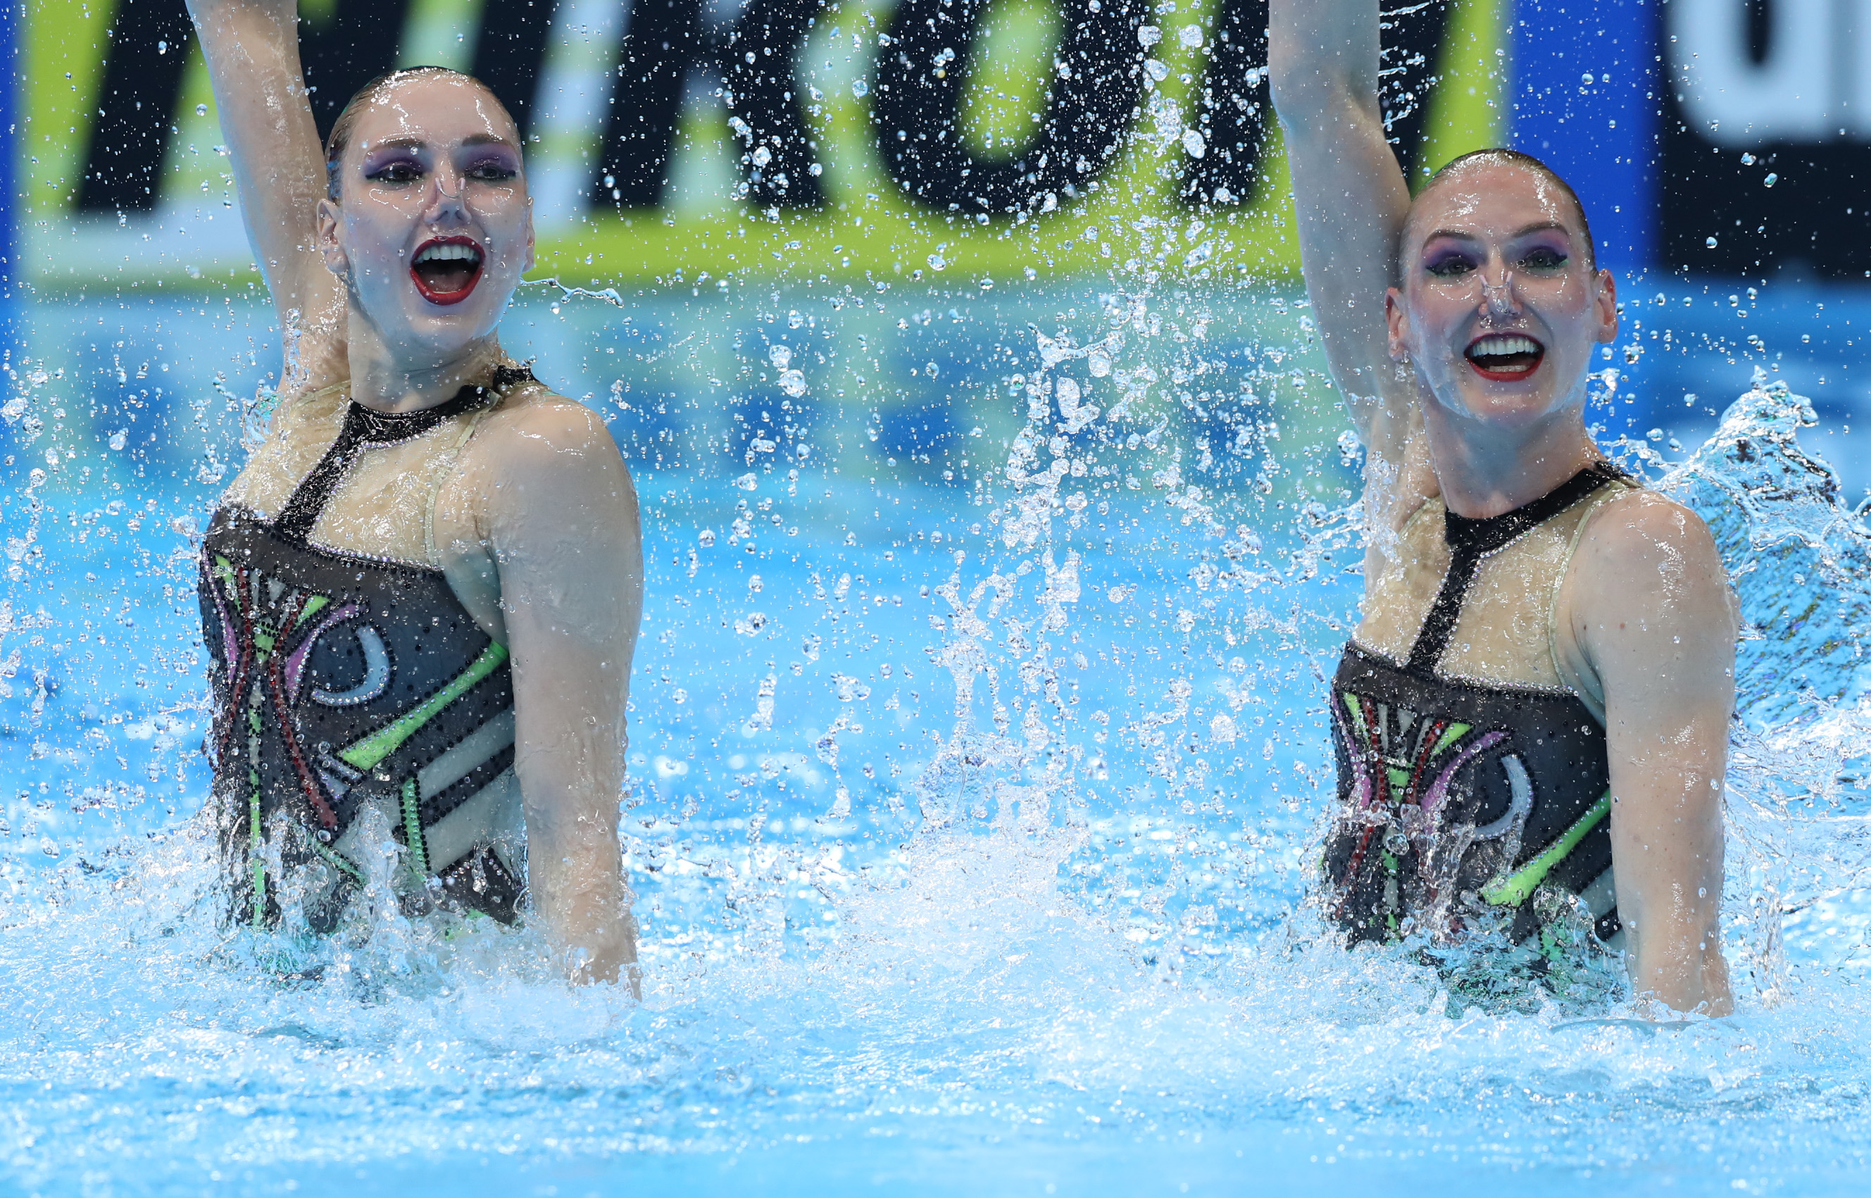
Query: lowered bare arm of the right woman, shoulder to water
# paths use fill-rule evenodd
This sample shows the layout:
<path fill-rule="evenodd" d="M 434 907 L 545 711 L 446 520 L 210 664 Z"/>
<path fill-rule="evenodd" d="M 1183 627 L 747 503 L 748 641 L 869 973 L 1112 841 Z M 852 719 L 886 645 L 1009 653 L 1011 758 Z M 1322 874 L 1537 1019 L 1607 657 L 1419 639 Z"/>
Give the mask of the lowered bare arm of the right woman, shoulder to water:
<path fill-rule="evenodd" d="M 1632 981 L 1676 1011 L 1727 1015 L 1721 784 L 1734 610 L 1708 528 L 1635 492 L 1581 545 L 1574 631 L 1605 694 L 1611 861 Z"/>

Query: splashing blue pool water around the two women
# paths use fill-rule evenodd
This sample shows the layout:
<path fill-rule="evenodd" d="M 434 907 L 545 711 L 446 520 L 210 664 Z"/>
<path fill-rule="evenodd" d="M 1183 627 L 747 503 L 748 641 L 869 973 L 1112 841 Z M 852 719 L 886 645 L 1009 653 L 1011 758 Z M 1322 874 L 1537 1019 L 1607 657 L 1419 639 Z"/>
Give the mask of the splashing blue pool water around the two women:
<path fill-rule="evenodd" d="M 1757 350 L 1729 290 L 1656 305 L 1693 352 L 1632 335 L 1594 406 L 1714 517 L 1755 629 L 1740 1013 L 1669 1026 L 1459 1009 L 1306 906 L 1360 554 L 1293 292 L 526 296 L 509 346 L 644 494 L 640 1005 L 524 932 L 215 927 L 191 535 L 268 313 L 15 313 L 0 1191 L 1862 1192 L 1871 307 L 1768 296 Z"/>

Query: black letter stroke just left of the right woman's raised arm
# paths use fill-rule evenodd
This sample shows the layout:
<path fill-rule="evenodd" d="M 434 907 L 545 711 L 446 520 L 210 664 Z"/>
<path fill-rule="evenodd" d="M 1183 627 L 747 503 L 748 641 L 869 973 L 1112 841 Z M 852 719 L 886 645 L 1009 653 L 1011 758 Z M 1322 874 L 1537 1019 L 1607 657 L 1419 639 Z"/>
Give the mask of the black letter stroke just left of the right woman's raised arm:
<path fill-rule="evenodd" d="M 1199 202 L 1254 198 L 1267 137 L 1267 0 L 1222 0 L 1203 71 L 1196 127 L 1207 152 L 1190 163 L 1184 195 Z"/>

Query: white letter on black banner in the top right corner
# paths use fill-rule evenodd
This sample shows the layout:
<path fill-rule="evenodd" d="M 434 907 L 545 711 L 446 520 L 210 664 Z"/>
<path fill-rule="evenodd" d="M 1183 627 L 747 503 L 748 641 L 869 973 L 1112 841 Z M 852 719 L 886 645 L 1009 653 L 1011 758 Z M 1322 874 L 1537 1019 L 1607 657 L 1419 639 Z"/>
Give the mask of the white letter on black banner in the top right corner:
<path fill-rule="evenodd" d="M 1749 45 L 1749 0 L 1675 0 L 1671 54 L 1682 110 L 1718 146 L 1824 142 L 1871 135 L 1871 19 L 1865 0 L 1764 4 L 1761 62 Z M 1837 34 L 1845 34 L 1841 39 Z M 1835 52 L 1843 51 L 1843 52 Z M 1850 47 L 1850 51 L 1845 51 Z"/>

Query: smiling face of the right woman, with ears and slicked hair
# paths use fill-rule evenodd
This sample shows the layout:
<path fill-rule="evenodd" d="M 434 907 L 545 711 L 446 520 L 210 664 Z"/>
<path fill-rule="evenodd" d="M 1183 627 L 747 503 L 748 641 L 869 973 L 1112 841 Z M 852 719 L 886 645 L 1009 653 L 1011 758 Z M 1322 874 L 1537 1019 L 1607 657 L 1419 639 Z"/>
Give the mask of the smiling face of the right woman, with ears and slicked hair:
<path fill-rule="evenodd" d="M 1618 333 L 1566 193 L 1525 165 L 1474 159 L 1416 198 L 1390 288 L 1390 356 L 1444 410 L 1529 427 L 1585 399 L 1592 348 Z"/>

